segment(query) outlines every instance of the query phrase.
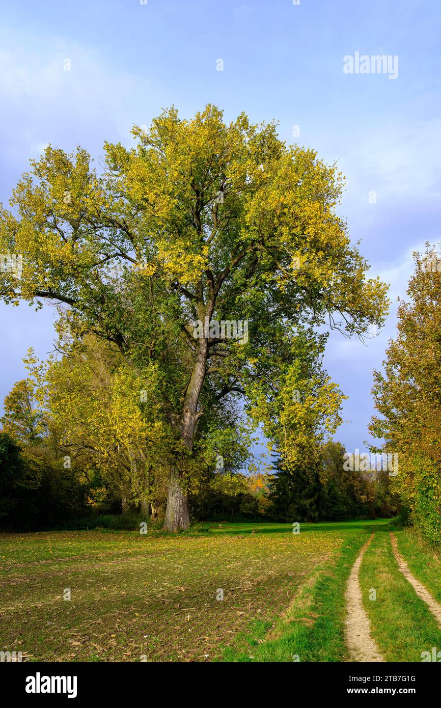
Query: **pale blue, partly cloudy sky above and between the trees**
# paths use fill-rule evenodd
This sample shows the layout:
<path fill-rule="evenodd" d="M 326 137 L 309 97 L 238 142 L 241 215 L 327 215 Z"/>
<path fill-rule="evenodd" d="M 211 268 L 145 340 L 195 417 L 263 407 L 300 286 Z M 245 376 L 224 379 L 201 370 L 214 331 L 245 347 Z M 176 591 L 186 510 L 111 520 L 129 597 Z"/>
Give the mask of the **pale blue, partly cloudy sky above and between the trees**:
<path fill-rule="evenodd" d="M 132 125 L 149 125 L 171 104 L 189 118 L 206 103 L 226 120 L 242 111 L 255 122 L 275 118 L 282 139 L 338 162 L 341 214 L 396 302 L 412 251 L 440 240 L 440 24 L 436 0 L 4 4 L 0 201 L 47 143 L 81 144 L 99 159 L 104 140 L 132 144 Z M 355 52 L 397 56 L 397 78 L 345 74 L 343 57 Z M 350 422 L 336 435 L 348 450 L 367 438 L 372 368 L 394 335 L 395 309 L 367 346 L 336 333 L 328 343 L 326 367 L 349 396 Z M 0 321 L 3 401 L 25 375 L 27 348 L 40 357 L 52 349 L 53 311 L 0 304 Z"/>

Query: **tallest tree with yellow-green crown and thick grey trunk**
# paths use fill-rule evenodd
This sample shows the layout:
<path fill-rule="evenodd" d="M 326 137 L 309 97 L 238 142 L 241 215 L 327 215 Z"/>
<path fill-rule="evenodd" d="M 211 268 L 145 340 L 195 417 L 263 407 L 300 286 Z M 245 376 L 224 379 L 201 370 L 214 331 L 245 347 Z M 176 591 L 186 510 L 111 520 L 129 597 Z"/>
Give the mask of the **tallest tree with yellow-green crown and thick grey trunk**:
<path fill-rule="evenodd" d="M 336 215 L 336 166 L 287 147 L 275 125 L 244 114 L 226 125 L 208 105 L 193 120 L 171 108 L 133 132 L 137 147 L 105 144 L 100 173 L 83 149 L 48 147 L 31 162 L 15 212 L 0 212 L 0 251 L 23 259 L 1 273 L 0 292 L 67 306 L 71 329 L 115 343 L 146 376 L 180 451 L 166 510 L 176 530 L 189 521 L 202 418 L 245 396 L 255 419 L 275 411 L 280 439 L 295 447 L 302 420 L 285 402 L 302 379 L 299 328 L 327 321 L 362 334 L 382 324 L 386 289 L 367 279 Z M 215 321 L 241 321 L 241 338 Z M 331 416 L 338 405 L 331 397 Z"/>

